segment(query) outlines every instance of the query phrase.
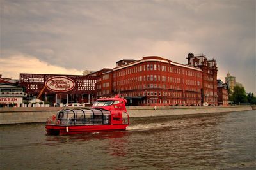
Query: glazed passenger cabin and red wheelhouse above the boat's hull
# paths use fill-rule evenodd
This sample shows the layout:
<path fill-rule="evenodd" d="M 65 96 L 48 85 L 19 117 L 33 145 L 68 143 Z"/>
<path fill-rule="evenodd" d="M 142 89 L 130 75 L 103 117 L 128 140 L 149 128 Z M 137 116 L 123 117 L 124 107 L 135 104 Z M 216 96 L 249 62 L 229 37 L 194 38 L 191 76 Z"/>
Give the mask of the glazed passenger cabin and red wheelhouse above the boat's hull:
<path fill-rule="evenodd" d="M 99 99 L 92 108 L 65 108 L 52 116 L 48 124 L 56 125 L 104 125 L 128 124 L 129 116 L 125 99 Z"/>

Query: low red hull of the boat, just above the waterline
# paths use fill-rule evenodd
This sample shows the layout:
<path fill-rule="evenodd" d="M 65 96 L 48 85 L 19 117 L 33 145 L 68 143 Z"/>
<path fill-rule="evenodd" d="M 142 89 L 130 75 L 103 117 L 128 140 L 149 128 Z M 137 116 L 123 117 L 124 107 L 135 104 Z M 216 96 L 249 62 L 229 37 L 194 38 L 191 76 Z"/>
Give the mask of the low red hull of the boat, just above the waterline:
<path fill-rule="evenodd" d="M 114 125 L 45 125 L 47 134 L 65 135 L 99 131 L 124 131 L 129 124 Z"/>

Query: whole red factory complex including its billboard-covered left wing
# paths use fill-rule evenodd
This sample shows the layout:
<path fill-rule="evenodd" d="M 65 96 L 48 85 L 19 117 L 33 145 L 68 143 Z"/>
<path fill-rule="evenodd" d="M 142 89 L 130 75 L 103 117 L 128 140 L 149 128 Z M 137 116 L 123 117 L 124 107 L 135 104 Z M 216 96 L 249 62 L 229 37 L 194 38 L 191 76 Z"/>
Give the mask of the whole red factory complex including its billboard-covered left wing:
<path fill-rule="evenodd" d="M 218 104 L 216 60 L 188 54 L 188 64 L 158 56 L 120 60 L 86 76 L 20 74 L 28 96 L 52 103 L 91 103 L 119 94 L 132 106 Z"/>

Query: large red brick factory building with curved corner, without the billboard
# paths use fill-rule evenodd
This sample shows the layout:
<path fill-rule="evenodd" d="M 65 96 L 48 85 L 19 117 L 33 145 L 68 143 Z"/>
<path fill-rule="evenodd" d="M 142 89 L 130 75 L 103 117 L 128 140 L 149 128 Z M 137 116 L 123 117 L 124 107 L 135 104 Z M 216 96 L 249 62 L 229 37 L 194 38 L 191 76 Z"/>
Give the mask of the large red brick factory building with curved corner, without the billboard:
<path fill-rule="evenodd" d="M 217 105 L 217 67 L 204 55 L 188 55 L 188 65 L 163 57 L 120 60 L 114 69 L 97 71 L 97 97 L 120 94 L 139 106 Z M 102 73 L 100 73 L 102 72 Z"/>

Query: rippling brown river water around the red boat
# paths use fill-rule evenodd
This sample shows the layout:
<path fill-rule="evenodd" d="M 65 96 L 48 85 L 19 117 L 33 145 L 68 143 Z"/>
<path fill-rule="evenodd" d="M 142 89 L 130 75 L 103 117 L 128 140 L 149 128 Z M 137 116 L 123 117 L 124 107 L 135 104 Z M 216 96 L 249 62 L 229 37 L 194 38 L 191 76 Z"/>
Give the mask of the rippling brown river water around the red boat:
<path fill-rule="evenodd" d="M 1 169 L 256 168 L 256 111 L 133 118 L 127 131 L 70 136 L 0 128 Z"/>

